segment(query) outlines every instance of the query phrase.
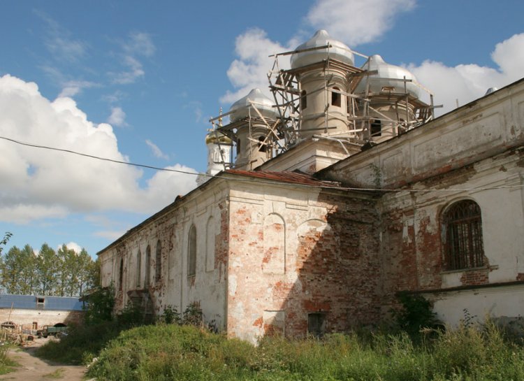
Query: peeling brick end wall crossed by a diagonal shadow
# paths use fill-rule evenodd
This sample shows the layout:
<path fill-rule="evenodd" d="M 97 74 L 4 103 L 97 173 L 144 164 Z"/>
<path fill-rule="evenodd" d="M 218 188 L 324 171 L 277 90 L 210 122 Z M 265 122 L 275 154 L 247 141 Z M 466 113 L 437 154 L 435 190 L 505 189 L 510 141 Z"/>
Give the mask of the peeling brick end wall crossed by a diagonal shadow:
<path fill-rule="evenodd" d="M 289 185 L 231 192 L 228 335 L 256 342 L 305 336 L 308 313 L 326 331 L 377 322 L 380 301 L 374 199 Z"/>

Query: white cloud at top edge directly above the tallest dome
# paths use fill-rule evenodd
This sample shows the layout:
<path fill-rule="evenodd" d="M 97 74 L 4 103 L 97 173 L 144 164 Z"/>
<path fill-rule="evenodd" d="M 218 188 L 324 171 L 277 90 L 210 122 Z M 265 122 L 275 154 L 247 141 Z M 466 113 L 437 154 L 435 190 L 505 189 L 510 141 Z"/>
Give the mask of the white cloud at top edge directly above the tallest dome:
<path fill-rule="evenodd" d="M 415 5 L 416 0 L 317 0 L 306 20 L 354 48 L 377 41 L 393 27 L 397 15 Z"/>

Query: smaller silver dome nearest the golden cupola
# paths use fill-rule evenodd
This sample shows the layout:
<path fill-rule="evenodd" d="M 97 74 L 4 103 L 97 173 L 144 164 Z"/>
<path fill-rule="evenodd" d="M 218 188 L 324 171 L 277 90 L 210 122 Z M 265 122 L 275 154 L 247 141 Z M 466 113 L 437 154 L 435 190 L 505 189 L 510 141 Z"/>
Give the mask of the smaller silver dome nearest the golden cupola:
<path fill-rule="evenodd" d="M 231 105 L 231 108 L 229 108 L 229 112 L 231 113 L 229 115 L 229 120 L 231 122 L 236 122 L 237 120 L 249 117 L 249 115 L 252 117 L 259 117 L 259 113 L 261 113 L 263 117 L 277 119 L 279 113 L 274 106 L 275 103 L 262 94 L 260 89 L 252 89 L 249 94 Z M 254 108 L 256 108 L 259 113 L 257 113 Z"/>

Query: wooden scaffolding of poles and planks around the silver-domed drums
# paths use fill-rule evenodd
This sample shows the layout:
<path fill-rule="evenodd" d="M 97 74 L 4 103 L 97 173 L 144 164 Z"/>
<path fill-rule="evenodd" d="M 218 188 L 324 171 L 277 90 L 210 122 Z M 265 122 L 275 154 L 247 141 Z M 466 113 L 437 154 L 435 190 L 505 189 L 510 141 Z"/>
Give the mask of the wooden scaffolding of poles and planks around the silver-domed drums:
<path fill-rule="evenodd" d="M 344 145 L 363 146 L 365 143 L 377 139 L 379 134 L 381 134 L 381 132 L 373 131 L 374 123 L 379 122 L 386 124 L 388 129 L 393 131 L 392 135 L 402 134 L 409 129 L 413 129 L 432 120 L 434 118 L 434 108 L 442 107 L 433 105 L 433 96 L 428 89 L 425 89 L 425 87 L 421 86 L 418 82 L 405 77 L 403 79 L 381 78 L 388 81 L 403 82 L 403 92 L 398 92 L 397 88 L 384 88 L 381 89 L 380 92 L 371 92 L 370 76 L 376 75 L 378 72 L 369 70 L 369 67 L 367 69 L 359 69 L 356 66 L 351 66 L 350 64 L 331 58 L 330 48 L 332 48 L 332 45 L 328 44 L 303 50 L 282 52 L 270 56 L 274 57 L 274 62 L 268 72 L 268 81 L 270 92 L 275 101 L 274 107 L 278 111 L 276 121 L 265 118 L 256 107 L 257 104 L 250 102 L 249 115 L 247 117 L 222 126 L 222 118 L 235 111 L 224 114 L 221 113 L 218 117 L 210 119 L 213 128 L 215 127 L 215 121 L 219 120 L 217 131 L 231 138 L 231 140 L 235 142 L 235 145 L 237 145 L 237 132 L 240 128 L 245 128 L 247 125 L 249 127 L 249 141 L 259 144 L 259 150 L 261 147 L 265 147 L 265 152 L 268 153 L 267 159 L 271 159 L 296 145 L 300 141 L 300 133 L 304 131 L 314 131 L 316 138 L 324 137 L 339 141 L 343 148 Z M 325 49 L 327 52 L 326 59 L 321 62 L 301 66 L 296 69 L 282 69 L 280 67 L 279 57 L 321 49 Z M 369 58 L 354 50 L 350 50 L 350 52 L 366 59 Z M 323 71 L 323 85 L 310 91 L 307 96 L 316 92 L 323 92 L 325 108 L 318 115 L 310 115 L 310 117 L 323 117 L 324 122 L 322 127 L 303 129 L 301 128 L 301 124 L 304 122 L 304 117 L 301 110 L 303 102 L 305 102 L 306 99 L 303 89 L 300 86 L 300 76 L 315 70 Z M 332 79 L 334 71 L 344 73 L 348 84 L 347 92 L 333 88 Z M 356 94 L 356 89 L 363 80 L 365 81 L 365 92 Z M 410 82 L 422 89 L 423 92 L 429 94 L 430 104 L 424 103 L 408 92 L 407 84 Z M 335 132 L 333 129 L 336 127 L 328 125 L 330 120 L 329 94 L 333 93 L 343 95 L 347 99 L 347 115 L 345 115 L 344 120 L 347 129 L 345 131 Z M 391 113 L 390 115 L 385 115 L 375 108 L 374 105 L 377 104 L 387 104 L 391 106 L 393 110 L 395 110 L 395 117 L 392 117 Z M 333 117 L 333 114 L 331 116 Z M 263 138 L 259 138 L 258 140 L 253 138 L 253 125 L 265 127 L 265 136 L 263 136 Z M 250 145 L 250 149 L 253 149 L 252 145 Z M 224 168 L 229 168 L 232 165 L 231 158 L 227 163 L 224 161 Z"/>

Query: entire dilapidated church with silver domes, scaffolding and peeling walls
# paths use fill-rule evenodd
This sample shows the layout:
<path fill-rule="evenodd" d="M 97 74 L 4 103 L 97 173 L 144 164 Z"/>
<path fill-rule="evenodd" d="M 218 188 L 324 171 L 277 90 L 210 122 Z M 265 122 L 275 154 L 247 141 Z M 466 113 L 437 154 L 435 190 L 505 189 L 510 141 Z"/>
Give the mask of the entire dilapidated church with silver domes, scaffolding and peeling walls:
<path fill-rule="evenodd" d="M 435 117 L 407 69 L 354 55 L 318 31 L 275 55 L 272 99 L 211 120 L 198 187 L 99 252 L 117 310 L 197 303 L 252 342 L 379 324 L 399 292 L 447 324 L 524 315 L 524 80 Z"/>

